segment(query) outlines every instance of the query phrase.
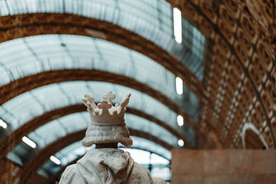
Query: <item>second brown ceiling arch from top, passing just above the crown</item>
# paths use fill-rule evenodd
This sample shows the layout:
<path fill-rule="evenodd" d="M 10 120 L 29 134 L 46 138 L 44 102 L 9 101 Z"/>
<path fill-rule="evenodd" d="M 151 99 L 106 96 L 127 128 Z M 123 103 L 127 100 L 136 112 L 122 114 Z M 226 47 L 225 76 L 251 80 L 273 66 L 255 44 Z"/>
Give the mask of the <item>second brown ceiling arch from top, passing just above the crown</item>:
<path fill-rule="evenodd" d="M 197 123 L 193 121 L 193 118 L 190 117 L 190 115 L 186 113 L 182 108 L 180 108 L 179 105 L 177 105 L 175 102 L 168 99 L 168 97 L 166 97 L 165 95 L 161 94 L 160 92 L 157 92 L 156 90 L 153 90 L 152 88 L 149 88 L 147 85 L 139 83 L 138 81 L 135 81 L 133 79 L 129 79 L 126 76 L 121 76 L 118 74 L 112 74 L 109 72 L 103 72 L 98 70 L 55 70 L 50 72 L 34 74 L 32 76 L 27 76 L 26 78 L 19 79 L 14 83 L 5 85 L 4 86 L 5 88 L 1 88 L 1 94 L 6 96 L 4 100 L 6 101 L 6 103 L 3 103 L 2 106 L 3 108 L 5 108 L 5 104 L 10 103 L 9 101 L 11 100 L 15 101 L 16 98 L 20 96 L 19 94 L 23 94 L 23 92 L 26 93 L 28 91 L 35 90 L 41 85 L 48 86 L 49 84 L 54 84 L 62 81 L 106 81 L 108 83 L 117 83 L 119 85 L 124 85 L 129 88 L 138 90 L 140 92 L 144 92 L 145 94 L 152 96 L 157 101 L 160 101 L 168 108 L 170 108 L 174 112 L 173 114 L 177 113 L 184 116 L 186 123 L 190 125 L 195 130 L 195 132 L 198 131 Z M 21 88 L 21 86 L 24 86 L 24 88 Z M 110 88 L 112 88 L 112 86 L 110 86 Z M 86 89 L 86 90 L 89 91 L 89 89 Z M 87 92 L 87 91 L 83 91 L 83 92 Z M 80 96 L 82 95 L 83 94 L 80 94 Z M 17 97 L 12 99 L 11 97 L 14 97 L 14 96 L 17 96 Z M 100 95 L 99 95 L 99 99 L 100 99 Z M 3 110 L 3 112 L 4 111 L 5 110 Z M 4 117 L 4 114 L 3 114 L 3 117 Z M 4 120 L 8 122 L 8 119 L 4 118 Z"/>

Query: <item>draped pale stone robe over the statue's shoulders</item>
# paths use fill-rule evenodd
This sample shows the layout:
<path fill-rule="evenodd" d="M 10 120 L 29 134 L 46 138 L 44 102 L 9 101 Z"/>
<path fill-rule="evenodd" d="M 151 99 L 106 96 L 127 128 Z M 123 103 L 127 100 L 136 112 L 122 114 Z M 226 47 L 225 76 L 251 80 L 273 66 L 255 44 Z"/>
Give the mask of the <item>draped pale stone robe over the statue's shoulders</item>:
<path fill-rule="evenodd" d="M 156 182 L 155 182 L 156 181 Z M 150 177 L 128 152 L 114 148 L 90 150 L 76 164 L 66 167 L 59 184 L 165 183 Z"/>

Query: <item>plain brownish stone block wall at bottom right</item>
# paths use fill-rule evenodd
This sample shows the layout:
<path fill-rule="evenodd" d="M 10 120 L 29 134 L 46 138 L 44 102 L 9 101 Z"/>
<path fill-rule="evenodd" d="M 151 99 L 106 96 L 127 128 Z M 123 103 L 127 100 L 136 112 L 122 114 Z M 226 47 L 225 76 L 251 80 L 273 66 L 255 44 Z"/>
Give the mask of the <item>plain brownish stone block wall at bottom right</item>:
<path fill-rule="evenodd" d="M 276 150 L 172 150 L 172 184 L 276 183 Z"/>

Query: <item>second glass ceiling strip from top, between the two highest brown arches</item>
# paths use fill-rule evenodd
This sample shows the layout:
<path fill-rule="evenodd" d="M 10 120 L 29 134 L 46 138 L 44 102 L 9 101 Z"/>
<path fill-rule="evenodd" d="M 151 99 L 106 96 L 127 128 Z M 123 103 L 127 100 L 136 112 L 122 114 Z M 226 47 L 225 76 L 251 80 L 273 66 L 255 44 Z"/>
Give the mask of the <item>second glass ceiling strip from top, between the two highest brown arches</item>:
<path fill-rule="evenodd" d="M 186 88 L 186 101 L 181 103 L 183 96 L 175 92 L 172 72 L 143 54 L 110 41 L 67 34 L 26 37 L 0 43 L 0 58 L 0 78 L 3 79 L 0 86 L 49 70 L 104 70 L 158 90 L 179 103 L 197 121 L 199 100 Z"/>

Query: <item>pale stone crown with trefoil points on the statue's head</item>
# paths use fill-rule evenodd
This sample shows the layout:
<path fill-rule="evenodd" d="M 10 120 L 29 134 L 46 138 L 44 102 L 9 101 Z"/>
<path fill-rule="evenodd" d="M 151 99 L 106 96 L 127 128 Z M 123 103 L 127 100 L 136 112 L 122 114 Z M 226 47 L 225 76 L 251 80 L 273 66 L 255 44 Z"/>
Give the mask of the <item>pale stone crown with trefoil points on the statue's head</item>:
<path fill-rule="evenodd" d="M 103 94 L 103 100 L 97 105 L 94 102 L 94 97 L 89 94 L 84 94 L 82 99 L 84 105 L 90 114 L 91 123 L 98 126 L 124 125 L 124 114 L 126 105 L 130 100 L 130 94 L 126 95 L 121 103 L 112 105 L 112 100 L 116 99 L 116 94 L 111 91 Z"/>

